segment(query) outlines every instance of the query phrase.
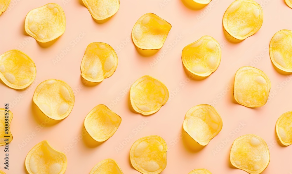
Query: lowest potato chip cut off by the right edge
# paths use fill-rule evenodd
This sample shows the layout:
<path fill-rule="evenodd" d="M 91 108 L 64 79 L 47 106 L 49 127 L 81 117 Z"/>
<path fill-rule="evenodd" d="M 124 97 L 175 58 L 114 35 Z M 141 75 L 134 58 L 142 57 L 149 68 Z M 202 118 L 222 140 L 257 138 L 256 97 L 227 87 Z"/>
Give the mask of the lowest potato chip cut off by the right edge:
<path fill-rule="evenodd" d="M 282 114 L 276 123 L 276 133 L 285 146 L 292 144 L 292 111 Z"/>

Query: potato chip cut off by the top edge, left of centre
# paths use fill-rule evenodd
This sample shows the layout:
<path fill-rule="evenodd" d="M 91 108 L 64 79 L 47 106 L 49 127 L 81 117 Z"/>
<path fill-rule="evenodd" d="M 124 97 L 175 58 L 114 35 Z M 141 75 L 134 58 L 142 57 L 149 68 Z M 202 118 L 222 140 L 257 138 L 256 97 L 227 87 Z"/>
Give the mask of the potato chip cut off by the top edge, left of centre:
<path fill-rule="evenodd" d="M 105 20 L 116 14 L 120 0 L 82 0 L 91 16 L 96 20 Z"/>

